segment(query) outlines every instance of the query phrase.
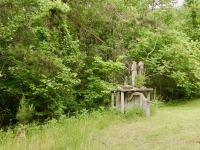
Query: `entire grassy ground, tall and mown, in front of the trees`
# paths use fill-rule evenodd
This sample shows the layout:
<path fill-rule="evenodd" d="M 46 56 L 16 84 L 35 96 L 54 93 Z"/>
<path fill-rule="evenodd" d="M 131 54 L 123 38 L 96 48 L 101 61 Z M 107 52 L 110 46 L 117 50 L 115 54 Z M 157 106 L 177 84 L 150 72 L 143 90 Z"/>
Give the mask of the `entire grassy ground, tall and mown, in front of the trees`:
<path fill-rule="evenodd" d="M 61 122 L 0 131 L 1 150 L 199 150 L 200 100 L 158 108 L 151 117 L 87 111 Z M 135 112 L 133 112 L 135 113 Z M 138 112 L 136 112 L 138 113 Z"/>

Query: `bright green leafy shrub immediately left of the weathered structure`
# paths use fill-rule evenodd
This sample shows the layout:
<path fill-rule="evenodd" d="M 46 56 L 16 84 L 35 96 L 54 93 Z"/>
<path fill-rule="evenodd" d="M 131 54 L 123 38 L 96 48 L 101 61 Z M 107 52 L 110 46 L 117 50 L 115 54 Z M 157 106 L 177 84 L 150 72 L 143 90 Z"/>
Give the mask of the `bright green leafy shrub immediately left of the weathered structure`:
<path fill-rule="evenodd" d="M 90 64 L 86 84 L 85 100 L 87 107 L 97 107 L 99 104 L 108 104 L 110 101 L 109 89 L 115 80 L 115 73 L 122 70 L 124 65 L 120 61 L 103 61 L 100 57 L 94 57 L 94 62 Z"/>

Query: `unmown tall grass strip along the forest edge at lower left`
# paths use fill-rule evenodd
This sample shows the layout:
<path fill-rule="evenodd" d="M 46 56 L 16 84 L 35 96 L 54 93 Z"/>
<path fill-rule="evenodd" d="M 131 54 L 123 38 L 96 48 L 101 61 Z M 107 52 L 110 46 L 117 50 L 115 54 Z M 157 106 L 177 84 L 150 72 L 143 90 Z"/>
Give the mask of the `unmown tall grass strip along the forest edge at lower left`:
<path fill-rule="evenodd" d="M 129 112 L 130 114 L 130 112 Z M 132 115 L 132 117 L 138 114 Z M 51 120 L 45 125 L 18 125 L 0 131 L 1 150 L 100 150 L 99 130 L 121 123 L 131 116 L 117 110 L 82 110 L 75 117 Z M 95 138 L 94 138 L 95 137 Z"/>

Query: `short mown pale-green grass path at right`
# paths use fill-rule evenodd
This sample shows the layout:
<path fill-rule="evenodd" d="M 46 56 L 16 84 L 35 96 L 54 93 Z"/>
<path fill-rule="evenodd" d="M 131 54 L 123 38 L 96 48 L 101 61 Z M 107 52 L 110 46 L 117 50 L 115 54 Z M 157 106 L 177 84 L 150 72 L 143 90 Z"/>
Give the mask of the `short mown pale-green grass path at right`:
<path fill-rule="evenodd" d="M 95 142 L 102 150 L 200 150 L 200 100 L 109 126 L 96 133 Z"/>

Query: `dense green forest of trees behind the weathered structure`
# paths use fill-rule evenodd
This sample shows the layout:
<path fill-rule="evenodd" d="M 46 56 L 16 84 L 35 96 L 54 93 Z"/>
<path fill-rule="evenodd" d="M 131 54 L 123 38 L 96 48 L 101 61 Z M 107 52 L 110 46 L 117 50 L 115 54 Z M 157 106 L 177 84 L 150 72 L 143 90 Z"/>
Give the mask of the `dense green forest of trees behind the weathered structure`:
<path fill-rule="evenodd" d="M 199 0 L 0 0 L 0 126 L 108 106 L 132 60 L 159 100 L 199 97 L 199 41 Z"/>

